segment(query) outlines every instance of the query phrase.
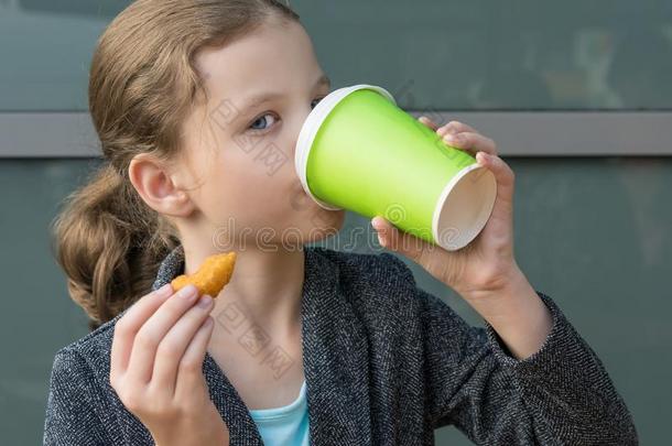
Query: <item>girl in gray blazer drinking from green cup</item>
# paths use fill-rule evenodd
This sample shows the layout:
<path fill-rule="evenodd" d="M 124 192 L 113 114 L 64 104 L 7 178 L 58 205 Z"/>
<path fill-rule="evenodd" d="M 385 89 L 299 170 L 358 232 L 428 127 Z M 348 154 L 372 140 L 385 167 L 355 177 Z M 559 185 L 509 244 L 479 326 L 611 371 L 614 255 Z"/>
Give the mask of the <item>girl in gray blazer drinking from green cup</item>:
<path fill-rule="evenodd" d="M 429 445 L 452 424 L 477 444 L 636 444 L 600 360 L 518 268 L 513 173 L 470 127 L 421 119 L 497 177 L 468 248 L 371 224 L 485 329 L 393 254 L 303 247 L 345 216 L 308 199 L 290 161 L 328 91 L 277 1 L 139 0 L 112 21 L 89 83 L 106 163 L 55 226 L 94 330 L 55 356 L 44 443 Z M 219 296 L 173 293 L 231 250 Z"/>

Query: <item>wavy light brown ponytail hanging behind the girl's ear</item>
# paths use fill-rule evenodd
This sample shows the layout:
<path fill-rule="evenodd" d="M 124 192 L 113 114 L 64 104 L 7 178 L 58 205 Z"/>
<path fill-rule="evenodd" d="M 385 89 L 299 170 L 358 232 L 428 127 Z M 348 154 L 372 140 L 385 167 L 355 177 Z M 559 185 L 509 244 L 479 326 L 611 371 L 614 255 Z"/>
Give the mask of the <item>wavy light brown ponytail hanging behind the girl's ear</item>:
<path fill-rule="evenodd" d="M 178 243 L 173 228 L 129 186 L 104 165 L 66 198 L 53 224 L 56 261 L 91 330 L 149 293 L 161 260 Z"/>

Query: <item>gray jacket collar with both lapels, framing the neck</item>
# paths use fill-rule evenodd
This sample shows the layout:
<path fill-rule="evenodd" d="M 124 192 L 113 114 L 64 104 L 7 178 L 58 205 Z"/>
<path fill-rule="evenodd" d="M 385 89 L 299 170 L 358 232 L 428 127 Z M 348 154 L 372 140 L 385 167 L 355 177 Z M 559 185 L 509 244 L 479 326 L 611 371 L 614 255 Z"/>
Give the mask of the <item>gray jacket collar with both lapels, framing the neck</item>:
<path fill-rule="evenodd" d="M 367 334 L 339 286 L 339 268 L 321 252 L 304 249 L 301 302 L 303 367 L 311 444 L 371 444 Z M 184 271 L 177 246 L 163 260 L 158 290 Z M 248 407 L 214 358 L 206 352 L 204 376 L 210 398 L 230 431 L 231 444 L 259 445 Z"/>

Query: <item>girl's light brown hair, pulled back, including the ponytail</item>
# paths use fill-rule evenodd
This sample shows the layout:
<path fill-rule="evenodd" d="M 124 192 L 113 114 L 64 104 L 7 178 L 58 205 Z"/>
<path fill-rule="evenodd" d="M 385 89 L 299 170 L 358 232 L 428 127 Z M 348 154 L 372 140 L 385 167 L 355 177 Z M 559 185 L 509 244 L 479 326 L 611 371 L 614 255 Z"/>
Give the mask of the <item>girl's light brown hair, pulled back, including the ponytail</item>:
<path fill-rule="evenodd" d="M 161 260 L 180 243 L 175 227 L 129 180 L 139 153 L 176 160 L 181 123 L 207 97 L 196 53 L 240 37 L 269 18 L 300 21 L 274 0 L 138 0 L 97 42 L 89 111 L 104 163 L 53 221 L 53 251 L 89 329 L 151 291 Z"/>

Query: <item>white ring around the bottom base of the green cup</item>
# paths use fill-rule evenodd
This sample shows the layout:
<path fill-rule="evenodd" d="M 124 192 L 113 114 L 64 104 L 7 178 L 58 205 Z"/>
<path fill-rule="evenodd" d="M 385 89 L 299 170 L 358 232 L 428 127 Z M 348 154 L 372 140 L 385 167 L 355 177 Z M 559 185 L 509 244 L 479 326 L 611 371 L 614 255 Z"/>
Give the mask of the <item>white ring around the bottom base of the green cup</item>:
<path fill-rule="evenodd" d="M 488 222 L 488 220 L 490 218 L 490 214 L 492 213 L 492 209 L 495 208 L 495 202 L 497 198 L 497 181 L 496 180 L 494 180 L 495 187 L 489 191 L 487 206 L 484 206 L 484 208 L 481 208 L 481 211 L 478 215 L 478 219 L 474 222 L 474 227 L 470 228 L 472 233 L 469 233 L 469 236 L 466 238 L 462 238 L 462 242 L 457 243 L 455 246 L 447 246 L 447 244 L 443 243 L 443 240 L 441 239 L 440 233 L 438 233 L 438 220 L 441 219 L 441 213 L 443 210 L 445 202 L 446 202 L 446 199 L 448 199 L 451 192 L 453 192 L 453 189 L 457 185 L 457 183 L 462 178 L 464 178 L 465 175 L 467 175 L 469 172 L 476 171 L 478 168 L 486 168 L 486 172 L 487 172 L 486 175 L 489 175 L 489 177 L 491 180 L 495 178 L 495 175 L 492 174 L 492 172 L 488 171 L 487 167 L 481 166 L 478 163 L 469 164 L 468 166 L 464 167 L 462 171 L 457 172 L 455 174 L 455 176 L 453 176 L 451 178 L 451 181 L 443 188 L 441 195 L 438 196 L 438 199 L 436 200 L 436 206 L 434 207 L 434 214 L 432 216 L 432 235 L 434 236 L 434 240 L 436 240 L 436 244 L 446 249 L 447 251 L 456 251 L 456 250 L 469 244 L 476 238 L 476 236 L 478 236 L 478 233 L 483 230 L 483 228 L 486 226 L 486 224 Z"/>

